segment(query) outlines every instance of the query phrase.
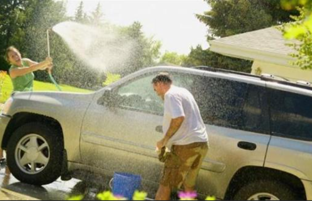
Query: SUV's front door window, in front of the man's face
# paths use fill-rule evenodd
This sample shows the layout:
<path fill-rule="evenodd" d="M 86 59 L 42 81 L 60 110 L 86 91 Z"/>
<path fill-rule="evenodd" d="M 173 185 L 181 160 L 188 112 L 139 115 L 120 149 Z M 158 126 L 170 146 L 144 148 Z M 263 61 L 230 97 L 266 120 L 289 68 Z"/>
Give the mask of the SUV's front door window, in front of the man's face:
<path fill-rule="evenodd" d="M 141 77 L 119 87 L 115 94 L 118 105 L 134 110 L 157 114 L 163 113 L 163 102 L 156 95 L 151 84 L 156 74 Z"/>

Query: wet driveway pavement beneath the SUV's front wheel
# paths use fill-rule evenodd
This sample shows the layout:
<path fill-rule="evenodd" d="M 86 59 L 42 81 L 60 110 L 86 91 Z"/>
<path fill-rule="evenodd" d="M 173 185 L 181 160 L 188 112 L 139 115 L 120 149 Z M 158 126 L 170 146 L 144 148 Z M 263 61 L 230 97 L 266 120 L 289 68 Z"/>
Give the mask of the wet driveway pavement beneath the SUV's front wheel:
<path fill-rule="evenodd" d="M 0 170 L 0 200 L 66 200 L 70 196 L 85 195 L 86 200 L 95 200 L 96 194 L 109 190 L 108 182 L 97 180 L 92 176 L 84 180 L 71 179 L 43 186 L 34 186 L 22 183 L 13 175 L 5 175 Z"/>

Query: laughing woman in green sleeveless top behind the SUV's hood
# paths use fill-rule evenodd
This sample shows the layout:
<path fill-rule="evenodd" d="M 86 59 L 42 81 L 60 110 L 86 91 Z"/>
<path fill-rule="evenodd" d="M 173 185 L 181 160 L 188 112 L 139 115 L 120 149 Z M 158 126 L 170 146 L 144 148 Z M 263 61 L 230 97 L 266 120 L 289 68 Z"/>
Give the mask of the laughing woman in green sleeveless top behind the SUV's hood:
<path fill-rule="evenodd" d="M 22 59 L 20 51 L 13 46 L 6 49 L 6 60 L 11 64 L 9 75 L 13 83 L 13 91 L 32 91 L 35 78 L 33 72 L 45 69 L 51 71 L 52 69 L 51 58 L 47 58 L 41 63 L 26 58 Z"/>

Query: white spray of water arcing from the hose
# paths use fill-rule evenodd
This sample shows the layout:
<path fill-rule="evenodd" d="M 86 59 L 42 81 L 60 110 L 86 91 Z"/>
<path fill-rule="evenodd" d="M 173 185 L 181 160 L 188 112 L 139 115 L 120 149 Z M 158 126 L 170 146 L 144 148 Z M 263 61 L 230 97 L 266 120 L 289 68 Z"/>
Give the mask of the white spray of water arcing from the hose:
<path fill-rule="evenodd" d="M 52 30 L 69 46 L 72 52 L 88 66 L 107 72 L 122 67 L 131 59 L 134 40 L 105 27 L 95 27 L 66 21 Z"/>

